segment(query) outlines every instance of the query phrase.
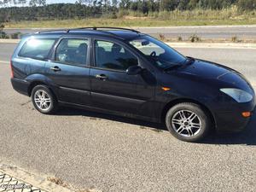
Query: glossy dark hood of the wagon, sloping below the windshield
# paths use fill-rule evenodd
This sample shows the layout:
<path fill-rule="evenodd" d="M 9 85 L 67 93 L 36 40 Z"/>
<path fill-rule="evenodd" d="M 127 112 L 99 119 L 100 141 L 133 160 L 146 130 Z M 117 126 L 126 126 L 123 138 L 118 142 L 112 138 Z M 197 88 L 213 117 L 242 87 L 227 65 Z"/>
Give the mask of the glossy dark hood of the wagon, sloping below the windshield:
<path fill-rule="evenodd" d="M 195 60 L 193 64 L 182 67 L 180 73 L 195 75 L 201 79 L 220 79 L 225 74 L 238 72 L 210 61 Z"/>

